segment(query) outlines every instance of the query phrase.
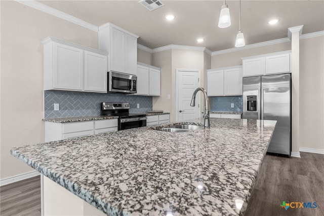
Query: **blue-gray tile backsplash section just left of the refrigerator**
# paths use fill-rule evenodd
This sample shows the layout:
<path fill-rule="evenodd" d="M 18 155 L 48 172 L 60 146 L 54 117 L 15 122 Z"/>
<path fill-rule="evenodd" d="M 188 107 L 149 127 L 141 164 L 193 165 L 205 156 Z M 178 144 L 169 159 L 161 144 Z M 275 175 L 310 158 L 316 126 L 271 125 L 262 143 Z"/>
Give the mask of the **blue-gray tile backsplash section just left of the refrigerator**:
<path fill-rule="evenodd" d="M 212 111 L 242 112 L 242 96 L 210 97 L 210 99 Z M 233 108 L 231 108 L 231 103 L 234 103 Z"/>

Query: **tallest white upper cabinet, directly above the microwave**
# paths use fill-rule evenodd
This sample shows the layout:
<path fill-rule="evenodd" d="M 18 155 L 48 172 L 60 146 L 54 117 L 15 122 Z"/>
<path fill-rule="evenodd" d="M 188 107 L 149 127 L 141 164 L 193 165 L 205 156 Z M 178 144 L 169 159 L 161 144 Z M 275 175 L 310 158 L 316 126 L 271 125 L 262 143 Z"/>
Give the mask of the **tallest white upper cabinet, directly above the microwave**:
<path fill-rule="evenodd" d="M 138 36 L 111 23 L 99 28 L 99 49 L 109 53 L 108 71 L 137 75 Z"/>

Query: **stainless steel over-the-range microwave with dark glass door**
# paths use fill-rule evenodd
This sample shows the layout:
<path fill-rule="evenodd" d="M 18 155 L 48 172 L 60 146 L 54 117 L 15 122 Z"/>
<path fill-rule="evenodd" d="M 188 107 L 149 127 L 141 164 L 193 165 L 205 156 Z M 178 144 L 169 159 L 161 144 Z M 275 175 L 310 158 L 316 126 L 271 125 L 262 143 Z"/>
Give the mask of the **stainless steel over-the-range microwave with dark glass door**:
<path fill-rule="evenodd" d="M 137 77 L 135 75 L 108 72 L 108 93 L 136 93 Z"/>

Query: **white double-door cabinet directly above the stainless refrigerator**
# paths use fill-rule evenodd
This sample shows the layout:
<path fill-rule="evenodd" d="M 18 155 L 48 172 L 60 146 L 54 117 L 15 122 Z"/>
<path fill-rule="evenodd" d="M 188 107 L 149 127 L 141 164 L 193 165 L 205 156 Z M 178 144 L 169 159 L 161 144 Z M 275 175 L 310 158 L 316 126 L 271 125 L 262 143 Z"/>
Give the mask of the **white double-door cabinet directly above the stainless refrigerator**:
<path fill-rule="evenodd" d="M 243 77 L 291 73 L 291 51 L 242 58 Z"/>

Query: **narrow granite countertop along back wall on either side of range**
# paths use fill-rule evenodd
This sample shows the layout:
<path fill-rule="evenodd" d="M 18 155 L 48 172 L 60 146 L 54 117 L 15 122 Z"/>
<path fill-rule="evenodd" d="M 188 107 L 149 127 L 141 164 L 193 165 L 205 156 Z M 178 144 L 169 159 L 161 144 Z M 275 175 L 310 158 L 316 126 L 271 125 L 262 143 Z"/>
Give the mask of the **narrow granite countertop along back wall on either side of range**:
<path fill-rule="evenodd" d="M 170 113 L 143 113 L 147 116 L 165 115 Z M 67 118 L 53 118 L 53 119 L 42 119 L 45 122 L 55 123 L 68 123 L 68 122 L 83 122 L 83 121 L 94 121 L 104 119 L 118 119 L 117 116 L 84 116 L 84 117 L 67 117 Z"/>

